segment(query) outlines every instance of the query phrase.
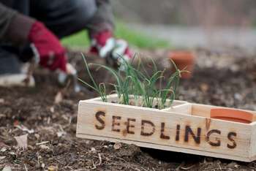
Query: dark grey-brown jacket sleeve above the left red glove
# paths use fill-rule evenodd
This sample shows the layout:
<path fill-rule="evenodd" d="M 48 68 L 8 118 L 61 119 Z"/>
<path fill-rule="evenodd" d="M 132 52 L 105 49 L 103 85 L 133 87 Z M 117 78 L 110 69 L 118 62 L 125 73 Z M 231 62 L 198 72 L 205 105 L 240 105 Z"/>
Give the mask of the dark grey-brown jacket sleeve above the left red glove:
<path fill-rule="evenodd" d="M 25 44 L 33 23 L 33 18 L 22 15 L 0 3 L 0 43 Z"/>

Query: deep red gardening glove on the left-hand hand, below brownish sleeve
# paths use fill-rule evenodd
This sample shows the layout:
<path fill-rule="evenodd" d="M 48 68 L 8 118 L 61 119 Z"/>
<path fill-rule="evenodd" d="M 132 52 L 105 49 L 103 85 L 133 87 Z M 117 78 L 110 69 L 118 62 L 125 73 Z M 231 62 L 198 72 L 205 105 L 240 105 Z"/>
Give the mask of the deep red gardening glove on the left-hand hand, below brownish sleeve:
<path fill-rule="evenodd" d="M 43 23 L 36 21 L 29 31 L 29 41 L 36 56 L 39 56 L 39 64 L 50 70 L 60 69 L 67 72 L 66 50 L 59 39 L 45 27 Z"/>

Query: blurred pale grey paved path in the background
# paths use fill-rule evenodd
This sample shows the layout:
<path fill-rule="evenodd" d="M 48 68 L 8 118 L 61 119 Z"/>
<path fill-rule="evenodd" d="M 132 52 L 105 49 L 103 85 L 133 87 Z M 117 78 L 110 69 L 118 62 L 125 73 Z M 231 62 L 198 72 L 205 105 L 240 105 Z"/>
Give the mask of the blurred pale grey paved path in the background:
<path fill-rule="evenodd" d="M 252 28 L 216 28 L 206 30 L 199 27 L 148 26 L 131 24 L 154 37 L 165 39 L 174 47 L 242 47 L 256 50 L 256 29 Z"/>

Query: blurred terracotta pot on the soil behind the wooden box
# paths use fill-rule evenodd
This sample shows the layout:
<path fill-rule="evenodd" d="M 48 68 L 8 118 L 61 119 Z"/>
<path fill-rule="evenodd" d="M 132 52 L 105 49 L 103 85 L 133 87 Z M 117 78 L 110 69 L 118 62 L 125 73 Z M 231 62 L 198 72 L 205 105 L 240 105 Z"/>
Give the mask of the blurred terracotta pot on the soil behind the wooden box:
<path fill-rule="evenodd" d="M 195 56 L 189 51 L 173 51 L 170 53 L 169 57 L 174 61 L 178 69 L 185 69 L 188 72 L 183 72 L 181 77 L 188 79 L 192 77 L 192 72 L 194 69 Z M 175 69 L 173 68 L 173 72 Z"/>

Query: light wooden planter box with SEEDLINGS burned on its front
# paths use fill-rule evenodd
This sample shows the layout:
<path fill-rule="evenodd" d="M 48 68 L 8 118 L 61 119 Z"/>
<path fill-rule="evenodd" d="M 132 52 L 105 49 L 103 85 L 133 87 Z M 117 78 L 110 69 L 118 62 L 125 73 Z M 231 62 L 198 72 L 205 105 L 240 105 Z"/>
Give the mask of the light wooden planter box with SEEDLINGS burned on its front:
<path fill-rule="evenodd" d="M 77 137 L 238 161 L 256 159 L 256 122 L 210 118 L 211 108 L 217 107 L 204 104 L 174 101 L 157 110 L 111 103 L 116 99 L 114 94 L 109 102 L 80 101 Z M 256 121 L 256 113 L 249 113 Z"/>

